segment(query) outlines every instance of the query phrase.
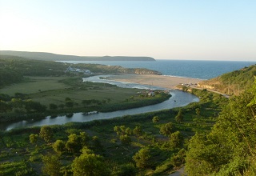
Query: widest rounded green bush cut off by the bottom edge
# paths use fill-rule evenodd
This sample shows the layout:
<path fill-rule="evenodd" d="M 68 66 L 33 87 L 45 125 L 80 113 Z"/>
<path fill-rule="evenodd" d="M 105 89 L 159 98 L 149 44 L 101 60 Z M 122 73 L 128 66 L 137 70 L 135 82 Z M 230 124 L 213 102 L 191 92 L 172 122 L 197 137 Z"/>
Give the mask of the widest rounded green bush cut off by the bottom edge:
<path fill-rule="evenodd" d="M 110 175 L 110 170 L 98 154 L 81 154 L 71 165 L 74 176 Z"/>

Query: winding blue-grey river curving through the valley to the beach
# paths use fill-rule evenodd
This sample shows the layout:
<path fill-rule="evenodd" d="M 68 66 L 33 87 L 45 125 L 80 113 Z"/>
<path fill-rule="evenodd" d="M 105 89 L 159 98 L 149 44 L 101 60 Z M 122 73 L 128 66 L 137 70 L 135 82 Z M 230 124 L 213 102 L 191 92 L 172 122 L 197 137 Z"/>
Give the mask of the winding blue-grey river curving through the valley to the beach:
<path fill-rule="evenodd" d="M 99 78 L 99 77 L 106 77 L 106 76 L 108 75 L 84 78 L 84 81 L 105 82 L 105 83 L 110 83 L 117 86 L 126 86 L 126 88 L 166 90 L 165 88 L 161 88 L 158 86 L 140 85 L 132 82 L 116 82 L 116 81 L 110 81 L 107 79 Z M 40 120 L 31 119 L 26 121 L 23 120 L 21 122 L 4 123 L 0 125 L 0 130 L 12 130 L 16 128 L 23 128 L 23 127 L 30 127 L 30 126 L 62 125 L 67 122 L 90 122 L 94 120 L 117 118 L 125 115 L 142 114 L 142 113 L 154 112 L 158 110 L 166 110 L 174 107 L 186 106 L 191 102 L 199 102 L 198 97 L 194 96 L 193 94 L 183 92 L 182 90 L 170 90 L 170 94 L 172 96 L 168 100 L 155 105 L 142 106 L 142 107 L 133 108 L 129 110 L 117 110 L 113 112 L 97 113 L 97 114 L 74 113 L 73 115 L 72 114 L 63 115 L 63 116 L 57 116 L 54 118 L 47 116 L 46 118 L 43 118 Z"/>

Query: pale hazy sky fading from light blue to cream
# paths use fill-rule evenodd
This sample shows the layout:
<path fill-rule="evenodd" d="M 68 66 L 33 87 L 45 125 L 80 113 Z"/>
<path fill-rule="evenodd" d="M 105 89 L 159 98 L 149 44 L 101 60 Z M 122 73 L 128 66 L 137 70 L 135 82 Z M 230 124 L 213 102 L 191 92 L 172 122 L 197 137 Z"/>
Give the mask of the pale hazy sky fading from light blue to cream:
<path fill-rule="evenodd" d="M 256 0 L 0 0 L 0 50 L 256 61 Z"/>

